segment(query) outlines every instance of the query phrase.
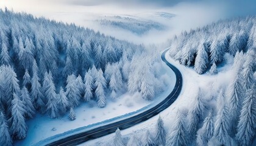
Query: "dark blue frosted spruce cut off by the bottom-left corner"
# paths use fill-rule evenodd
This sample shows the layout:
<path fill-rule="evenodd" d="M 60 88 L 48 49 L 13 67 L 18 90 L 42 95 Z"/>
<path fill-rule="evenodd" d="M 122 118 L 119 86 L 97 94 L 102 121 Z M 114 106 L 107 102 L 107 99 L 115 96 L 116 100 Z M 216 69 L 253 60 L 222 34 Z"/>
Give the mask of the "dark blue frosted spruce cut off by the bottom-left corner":
<path fill-rule="evenodd" d="M 0 111 L 0 137 L 1 145 L 12 146 L 12 137 L 10 136 L 9 127 L 2 111 Z"/>

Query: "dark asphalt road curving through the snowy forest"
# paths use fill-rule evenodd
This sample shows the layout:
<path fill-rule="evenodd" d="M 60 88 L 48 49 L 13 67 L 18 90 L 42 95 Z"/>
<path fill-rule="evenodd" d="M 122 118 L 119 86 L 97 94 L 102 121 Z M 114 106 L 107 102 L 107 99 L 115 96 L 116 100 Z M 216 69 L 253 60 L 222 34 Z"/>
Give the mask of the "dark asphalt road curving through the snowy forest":
<path fill-rule="evenodd" d="M 118 122 L 109 123 L 107 125 L 94 128 L 92 130 L 84 131 L 79 134 L 74 134 L 73 136 L 68 136 L 63 139 L 59 139 L 58 141 L 52 142 L 51 144 L 47 145 L 79 145 L 84 142 L 90 141 L 91 139 L 96 139 L 98 137 L 114 133 L 117 128 L 119 128 L 120 130 L 124 130 L 126 128 L 132 127 L 133 125 L 137 125 L 138 123 L 148 120 L 151 117 L 154 117 L 155 115 L 159 114 L 164 109 L 168 108 L 180 94 L 180 91 L 182 89 L 182 74 L 175 66 L 170 64 L 165 59 L 166 52 L 167 50 L 163 52 L 161 58 L 169 66 L 169 68 L 171 68 L 172 71 L 174 71 L 174 73 L 176 74 L 176 84 L 174 86 L 174 89 L 169 94 L 169 96 L 166 97 L 166 99 L 158 103 L 158 105 L 154 106 L 153 108 L 144 111 L 143 113 L 137 114 L 124 120 L 120 120 Z"/>

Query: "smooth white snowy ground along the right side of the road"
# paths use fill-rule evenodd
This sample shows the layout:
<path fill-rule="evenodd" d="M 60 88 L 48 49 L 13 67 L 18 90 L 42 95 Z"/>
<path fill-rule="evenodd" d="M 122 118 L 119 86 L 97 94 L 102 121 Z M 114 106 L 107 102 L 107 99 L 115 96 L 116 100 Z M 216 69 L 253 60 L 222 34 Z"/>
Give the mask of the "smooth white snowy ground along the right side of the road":
<path fill-rule="evenodd" d="M 224 61 L 225 65 L 218 67 L 219 73 L 216 75 L 199 75 L 193 68 L 187 68 L 179 64 L 177 61 L 172 60 L 172 58 L 169 57 L 168 52 L 166 53 L 166 60 L 176 66 L 176 68 L 182 73 L 183 77 L 183 86 L 180 96 L 174 103 L 172 103 L 171 106 L 169 106 L 169 108 L 165 109 L 160 114 L 163 122 L 165 123 L 166 130 L 169 132 L 172 123 L 174 123 L 174 120 L 176 119 L 177 110 L 188 110 L 193 106 L 199 87 L 202 89 L 205 99 L 209 102 L 215 102 L 215 98 L 212 96 L 212 93 L 218 94 L 219 87 L 226 86 L 227 83 L 229 83 L 233 59 L 226 56 L 226 60 Z M 145 122 L 135 125 L 132 128 L 121 131 L 124 140 L 128 141 L 129 136 L 133 131 L 137 133 L 138 137 L 141 137 L 146 130 L 149 130 L 152 133 L 154 131 L 155 124 L 157 123 L 157 119 L 158 116 L 155 116 Z M 81 145 L 104 145 L 104 142 L 110 141 L 109 139 L 112 139 L 113 135 L 114 134 L 109 134 L 108 136 L 100 137 L 99 139 L 88 141 Z"/>

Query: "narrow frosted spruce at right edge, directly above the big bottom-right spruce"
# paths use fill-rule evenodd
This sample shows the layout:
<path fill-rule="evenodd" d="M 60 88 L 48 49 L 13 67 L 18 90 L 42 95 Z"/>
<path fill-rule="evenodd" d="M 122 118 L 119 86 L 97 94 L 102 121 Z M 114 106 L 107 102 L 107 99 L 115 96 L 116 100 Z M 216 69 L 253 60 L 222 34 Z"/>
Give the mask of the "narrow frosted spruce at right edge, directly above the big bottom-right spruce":
<path fill-rule="evenodd" d="M 246 61 L 243 64 L 243 77 L 244 77 L 244 83 L 243 88 L 249 89 L 252 86 L 252 83 L 254 82 L 254 59 L 251 54 L 247 53 L 246 55 Z"/>

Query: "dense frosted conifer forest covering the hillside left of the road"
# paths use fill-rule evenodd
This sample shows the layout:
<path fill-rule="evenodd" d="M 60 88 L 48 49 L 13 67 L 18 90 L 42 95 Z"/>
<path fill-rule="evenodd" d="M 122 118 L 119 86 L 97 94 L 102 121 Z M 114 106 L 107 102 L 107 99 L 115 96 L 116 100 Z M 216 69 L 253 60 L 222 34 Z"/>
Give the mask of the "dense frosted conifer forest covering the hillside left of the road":
<path fill-rule="evenodd" d="M 0 19 L 1 144 L 24 139 L 37 113 L 74 120 L 82 102 L 103 108 L 124 92 L 152 100 L 160 91 L 160 59 L 142 45 L 7 9 Z"/>

